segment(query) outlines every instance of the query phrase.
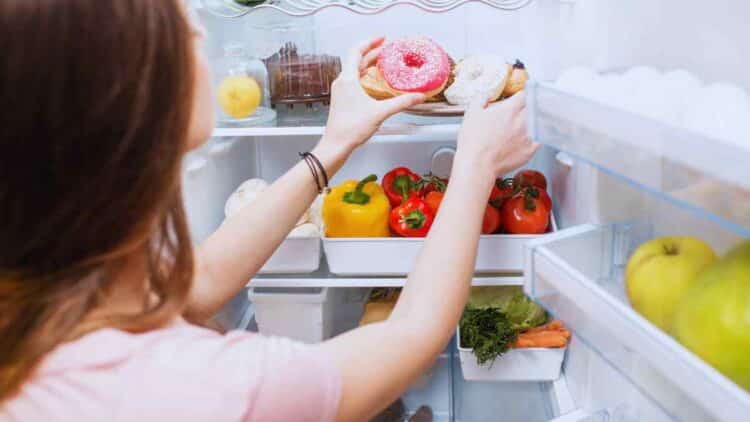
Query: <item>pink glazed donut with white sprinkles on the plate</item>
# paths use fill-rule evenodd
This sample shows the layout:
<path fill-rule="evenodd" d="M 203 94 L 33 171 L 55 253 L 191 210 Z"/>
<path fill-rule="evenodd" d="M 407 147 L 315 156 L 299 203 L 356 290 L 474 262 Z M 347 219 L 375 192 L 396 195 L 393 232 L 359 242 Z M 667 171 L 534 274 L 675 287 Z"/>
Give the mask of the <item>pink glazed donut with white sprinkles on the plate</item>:
<path fill-rule="evenodd" d="M 396 94 L 419 92 L 428 98 L 443 91 L 451 73 L 450 57 L 425 37 L 404 38 L 384 45 L 378 70 Z"/>

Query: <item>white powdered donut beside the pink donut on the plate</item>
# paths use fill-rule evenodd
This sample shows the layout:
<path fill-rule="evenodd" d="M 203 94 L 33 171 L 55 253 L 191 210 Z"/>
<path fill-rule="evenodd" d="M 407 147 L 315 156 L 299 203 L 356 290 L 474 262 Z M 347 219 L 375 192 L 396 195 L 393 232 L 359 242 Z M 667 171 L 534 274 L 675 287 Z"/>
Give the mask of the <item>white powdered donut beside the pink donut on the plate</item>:
<path fill-rule="evenodd" d="M 474 98 L 496 101 L 505 89 L 512 67 L 501 57 L 469 56 L 453 70 L 456 79 L 445 90 L 445 98 L 455 105 L 467 105 Z"/>

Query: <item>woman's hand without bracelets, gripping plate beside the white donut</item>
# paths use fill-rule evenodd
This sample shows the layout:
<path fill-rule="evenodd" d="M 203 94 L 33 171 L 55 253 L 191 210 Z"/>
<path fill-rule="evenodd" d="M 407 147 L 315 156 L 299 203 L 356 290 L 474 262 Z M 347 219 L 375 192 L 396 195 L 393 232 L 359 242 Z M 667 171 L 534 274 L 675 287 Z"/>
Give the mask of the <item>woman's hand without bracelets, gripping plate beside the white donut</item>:
<path fill-rule="evenodd" d="M 458 134 L 454 166 L 475 169 L 495 180 L 523 166 L 539 145 L 526 129 L 526 93 L 487 105 L 475 101 L 466 111 Z"/>

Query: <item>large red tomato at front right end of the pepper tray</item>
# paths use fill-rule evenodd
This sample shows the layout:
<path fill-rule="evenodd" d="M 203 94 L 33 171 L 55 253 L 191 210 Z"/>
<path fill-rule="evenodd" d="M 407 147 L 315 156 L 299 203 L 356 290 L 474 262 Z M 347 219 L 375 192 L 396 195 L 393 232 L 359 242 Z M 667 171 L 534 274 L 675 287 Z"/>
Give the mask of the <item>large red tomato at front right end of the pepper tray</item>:
<path fill-rule="evenodd" d="M 542 234 L 547 232 L 549 213 L 541 199 L 517 195 L 503 205 L 503 228 L 510 234 Z"/>

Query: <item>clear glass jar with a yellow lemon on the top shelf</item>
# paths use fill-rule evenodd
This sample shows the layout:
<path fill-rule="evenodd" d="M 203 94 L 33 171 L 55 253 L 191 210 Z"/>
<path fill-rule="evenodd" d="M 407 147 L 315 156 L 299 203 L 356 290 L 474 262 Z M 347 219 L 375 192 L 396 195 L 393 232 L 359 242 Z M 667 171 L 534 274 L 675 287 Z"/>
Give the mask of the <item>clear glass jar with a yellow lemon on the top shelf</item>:
<path fill-rule="evenodd" d="M 258 126 L 276 119 L 271 108 L 266 66 L 239 43 L 224 46 L 215 73 L 216 106 L 221 126 Z"/>

